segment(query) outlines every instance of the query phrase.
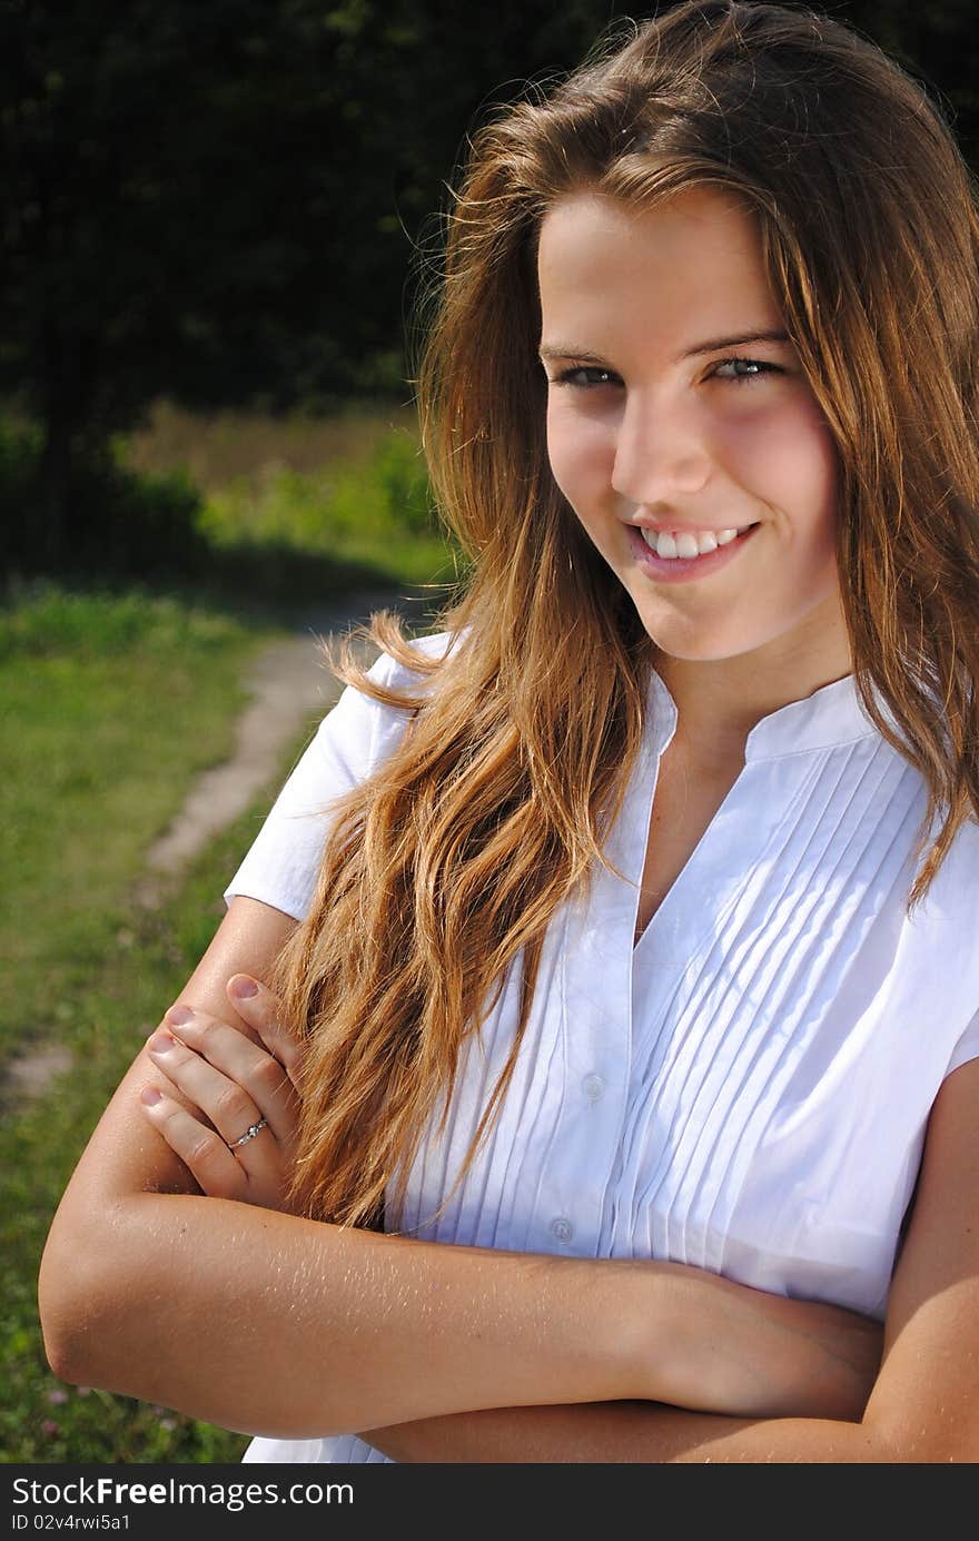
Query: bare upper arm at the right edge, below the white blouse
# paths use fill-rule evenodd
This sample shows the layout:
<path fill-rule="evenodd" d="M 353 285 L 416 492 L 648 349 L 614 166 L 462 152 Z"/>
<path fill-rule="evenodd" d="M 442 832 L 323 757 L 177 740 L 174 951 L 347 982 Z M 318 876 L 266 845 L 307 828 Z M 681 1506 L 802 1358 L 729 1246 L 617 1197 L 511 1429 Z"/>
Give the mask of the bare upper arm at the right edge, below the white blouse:
<path fill-rule="evenodd" d="M 897 1461 L 979 1461 L 979 1059 L 928 1119 L 865 1419 Z"/>

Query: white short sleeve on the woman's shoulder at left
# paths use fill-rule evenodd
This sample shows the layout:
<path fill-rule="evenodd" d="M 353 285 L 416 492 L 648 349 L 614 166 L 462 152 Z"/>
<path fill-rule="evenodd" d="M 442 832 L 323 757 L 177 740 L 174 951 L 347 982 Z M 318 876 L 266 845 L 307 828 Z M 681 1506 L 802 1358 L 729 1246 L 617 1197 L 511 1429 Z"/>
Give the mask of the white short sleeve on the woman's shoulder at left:
<path fill-rule="evenodd" d="M 415 646 L 429 652 L 442 638 L 444 633 L 427 636 L 421 643 L 416 640 Z M 368 669 L 368 678 L 402 686 L 419 676 L 381 653 Z M 347 686 L 279 792 L 224 892 L 225 903 L 244 895 L 304 920 L 316 888 L 331 804 L 395 750 L 405 726 L 404 710 Z"/>

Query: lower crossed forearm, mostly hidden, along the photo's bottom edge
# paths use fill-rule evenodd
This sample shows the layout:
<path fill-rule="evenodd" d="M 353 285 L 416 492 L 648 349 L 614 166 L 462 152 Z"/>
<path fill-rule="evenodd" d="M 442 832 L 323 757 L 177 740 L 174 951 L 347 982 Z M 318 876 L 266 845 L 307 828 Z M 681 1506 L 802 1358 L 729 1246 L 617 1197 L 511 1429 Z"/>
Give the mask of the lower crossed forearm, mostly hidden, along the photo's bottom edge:
<path fill-rule="evenodd" d="M 896 1455 L 860 1422 L 743 1419 L 654 1402 L 504 1407 L 375 1429 L 362 1438 L 415 1464 L 888 1462 Z"/>

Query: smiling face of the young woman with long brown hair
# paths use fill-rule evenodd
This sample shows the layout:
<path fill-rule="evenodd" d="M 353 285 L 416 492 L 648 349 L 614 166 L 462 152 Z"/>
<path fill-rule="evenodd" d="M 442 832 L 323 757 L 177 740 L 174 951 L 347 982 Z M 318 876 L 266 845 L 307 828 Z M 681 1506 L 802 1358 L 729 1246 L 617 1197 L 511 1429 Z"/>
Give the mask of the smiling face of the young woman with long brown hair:
<path fill-rule="evenodd" d="M 538 271 L 550 465 L 649 636 L 759 663 L 842 641 L 826 421 L 788 341 L 731 341 L 785 334 L 748 213 L 705 188 L 643 213 L 569 196 Z"/>

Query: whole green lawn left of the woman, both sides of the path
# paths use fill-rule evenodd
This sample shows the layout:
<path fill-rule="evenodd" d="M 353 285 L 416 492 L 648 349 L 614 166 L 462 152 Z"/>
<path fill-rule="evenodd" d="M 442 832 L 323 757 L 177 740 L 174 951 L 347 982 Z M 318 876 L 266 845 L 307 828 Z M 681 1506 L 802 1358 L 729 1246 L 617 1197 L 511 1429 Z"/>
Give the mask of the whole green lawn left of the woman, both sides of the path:
<path fill-rule="evenodd" d="M 59 1045 L 72 1071 L 0 1122 L 0 1455 L 236 1459 L 241 1436 L 60 1385 L 37 1267 L 54 1207 L 113 1088 L 207 945 L 259 811 L 160 914 L 131 903 L 142 855 L 194 775 L 227 758 L 242 667 L 273 633 L 173 598 L 23 592 L 0 613 L 0 1054 Z M 210 863 L 210 865 L 208 865 Z"/>

